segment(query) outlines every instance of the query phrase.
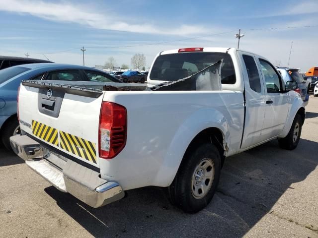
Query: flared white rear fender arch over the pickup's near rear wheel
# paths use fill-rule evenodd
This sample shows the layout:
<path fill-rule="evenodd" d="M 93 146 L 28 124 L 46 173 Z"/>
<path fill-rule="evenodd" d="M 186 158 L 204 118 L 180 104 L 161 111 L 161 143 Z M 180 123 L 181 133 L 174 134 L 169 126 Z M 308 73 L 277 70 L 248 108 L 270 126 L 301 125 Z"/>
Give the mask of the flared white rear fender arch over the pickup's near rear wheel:
<path fill-rule="evenodd" d="M 221 112 L 215 109 L 196 111 L 180 125 L 175 133 L 153 183 L 162 187 L 169 186 L 191 141 L 201 131 L 210 127 L 218 128 L 223 134 L 224 142 L 230 144 L 229 123 Z"/>

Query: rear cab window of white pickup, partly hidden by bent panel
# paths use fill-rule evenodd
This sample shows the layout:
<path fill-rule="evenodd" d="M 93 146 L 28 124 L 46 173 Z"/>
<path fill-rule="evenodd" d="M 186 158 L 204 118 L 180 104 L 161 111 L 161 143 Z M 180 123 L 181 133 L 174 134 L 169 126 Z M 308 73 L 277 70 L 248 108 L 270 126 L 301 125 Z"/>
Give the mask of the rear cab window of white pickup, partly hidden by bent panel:
<path fill-rule="evenodd" d="M 159 56 L 150 73 L 151 80 L 176 81 L 190 76 L 223 59 L 222 84 L 235 84 L 236 74 L 232 58 L 226 53 L 191 52 Z"/>

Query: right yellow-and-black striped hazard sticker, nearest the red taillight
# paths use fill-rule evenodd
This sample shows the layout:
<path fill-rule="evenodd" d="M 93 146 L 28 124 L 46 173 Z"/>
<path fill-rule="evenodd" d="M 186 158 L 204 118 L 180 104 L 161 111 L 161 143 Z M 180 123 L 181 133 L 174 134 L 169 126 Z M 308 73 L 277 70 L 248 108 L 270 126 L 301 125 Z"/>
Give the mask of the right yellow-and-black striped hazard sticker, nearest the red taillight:
<path fill-rule="evenodd" d="M 96 162 L 96 144 L 80 138 L 78 136 L 69 134 L 62 130 L 60 132 L 60 147 L 74 155 L 77 155 L 94 164 Z"/>

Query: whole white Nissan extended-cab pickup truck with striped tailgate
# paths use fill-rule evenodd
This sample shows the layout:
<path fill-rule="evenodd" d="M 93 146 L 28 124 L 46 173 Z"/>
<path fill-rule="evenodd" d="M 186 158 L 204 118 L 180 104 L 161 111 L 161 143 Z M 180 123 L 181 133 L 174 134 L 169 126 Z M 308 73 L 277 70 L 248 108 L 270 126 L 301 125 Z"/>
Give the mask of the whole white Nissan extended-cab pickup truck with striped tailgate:
<path fill-rule="evenodd" d="M 159 186 L 194 213 L 211 201 L 226 157 L 275 138 L 285 149 L 298 145 L 305 107 L 292 91 L 297 82 L 284 85 L 261 56 L 234 48 L 163 51 L 148 82 L 155 86 L 22 81 L 22 135 L 11 146 L 92 207 Z"/>

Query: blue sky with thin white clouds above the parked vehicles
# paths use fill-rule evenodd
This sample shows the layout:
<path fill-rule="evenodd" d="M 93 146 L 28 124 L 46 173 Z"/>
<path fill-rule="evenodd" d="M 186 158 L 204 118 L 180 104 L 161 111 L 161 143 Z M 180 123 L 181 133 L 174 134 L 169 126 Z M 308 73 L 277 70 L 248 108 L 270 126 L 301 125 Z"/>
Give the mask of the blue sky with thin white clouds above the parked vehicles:
<path fill-rule="evenodd" d="M 164 50 L 237 47 L 274 64 L 318 66 L 318 0 L 0 0 L 0 55 L 146 67 Z M 316 27 L 304 27 L 315 26 Z"/>

